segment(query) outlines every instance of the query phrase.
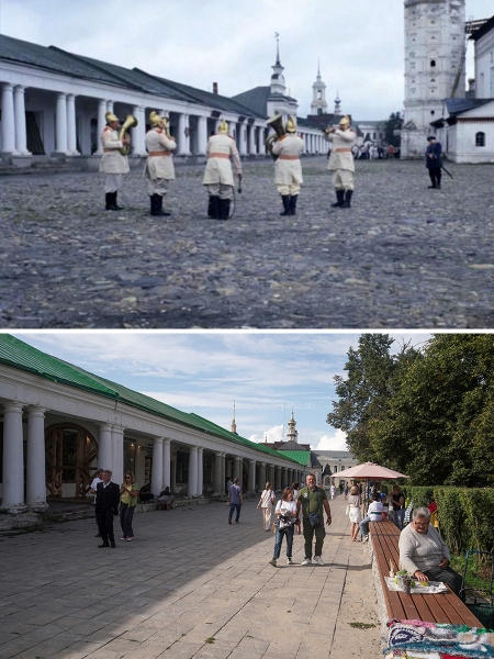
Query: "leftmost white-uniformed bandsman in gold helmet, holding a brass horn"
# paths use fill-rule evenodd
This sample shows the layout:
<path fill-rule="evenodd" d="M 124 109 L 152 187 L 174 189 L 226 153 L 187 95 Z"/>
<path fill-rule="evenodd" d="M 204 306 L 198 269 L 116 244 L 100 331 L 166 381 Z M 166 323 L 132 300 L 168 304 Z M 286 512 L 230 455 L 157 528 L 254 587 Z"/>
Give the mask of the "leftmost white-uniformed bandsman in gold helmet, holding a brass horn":
<path fill-rule="evenodd" d="M 104 183 L 105 208 L 106 211 L 121 211 L 122 206 L 116 203 L 116 194 L 122 187 L 122 175 L 127 174 L 130 168 L 127 156 L 123 156 L 119 149 L 130 144 L 131 138 L 120 138 L 119 118 L 112 112 L 106 112 L 104 119 L 106 125 L 101 133 L 103 157 L 100 163 L 100 171 L 106 175 Z"/>

